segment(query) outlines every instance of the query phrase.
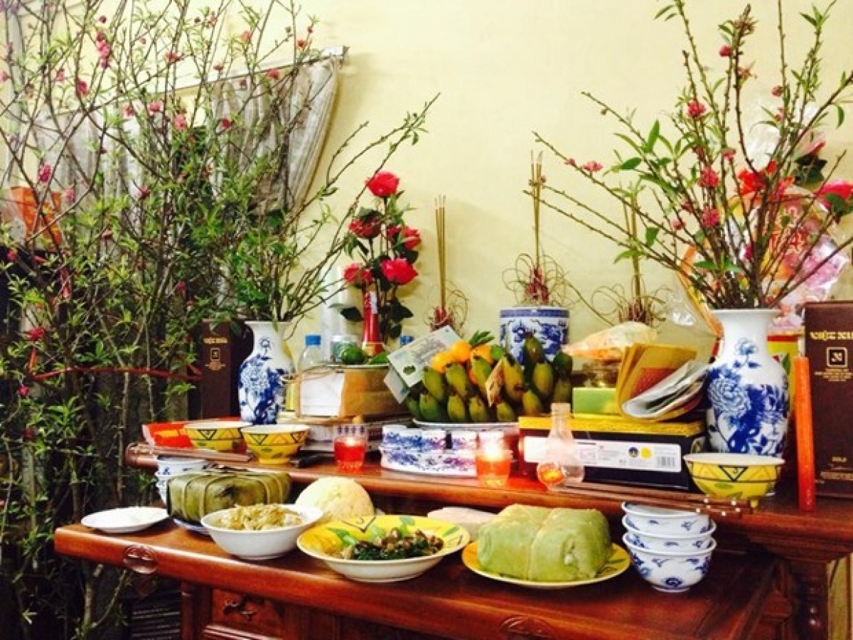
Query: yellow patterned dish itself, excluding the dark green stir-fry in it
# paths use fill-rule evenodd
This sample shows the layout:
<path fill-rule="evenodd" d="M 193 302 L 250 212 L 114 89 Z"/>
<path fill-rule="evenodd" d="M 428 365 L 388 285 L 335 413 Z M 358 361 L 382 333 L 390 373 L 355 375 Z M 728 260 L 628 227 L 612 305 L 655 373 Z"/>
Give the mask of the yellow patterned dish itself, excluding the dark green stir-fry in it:
<path fill-rule="evenodd" d="M 340 556 L 345 544 L 353 540 L 384 537 L 394 528 L 403 532 L 420 529 L 428 535 L 438 536 L 444 544 L 432 556 L 401 560 L 346 560 Z M 461 551 L 470 540 L 467 529 L 453 522 L 420 515 L 373 515 L 312 527 L 299 536 L 296 544 L 305 554 L 324 561 L 329 568 L 346 578 L 358 582 L 398 582 L 425 573 L 445 556 Z"/>

